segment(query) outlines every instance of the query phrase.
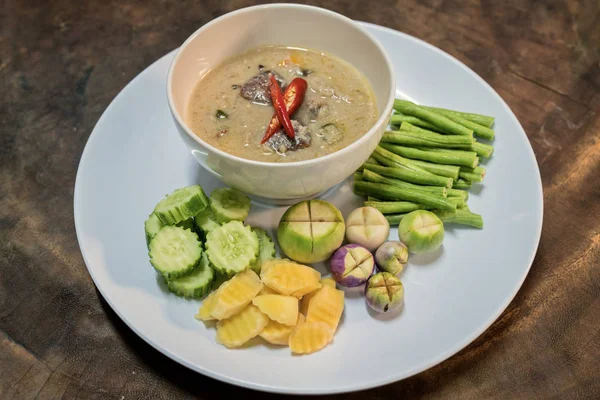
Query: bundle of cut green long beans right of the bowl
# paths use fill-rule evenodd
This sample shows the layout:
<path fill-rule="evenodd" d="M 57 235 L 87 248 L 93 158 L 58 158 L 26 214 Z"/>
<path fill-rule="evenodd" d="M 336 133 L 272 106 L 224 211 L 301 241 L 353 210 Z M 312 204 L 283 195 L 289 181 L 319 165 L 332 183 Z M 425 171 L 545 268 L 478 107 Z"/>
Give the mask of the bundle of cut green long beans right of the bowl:
<path fill-rule="evenodd" d="M 483 228 L 467 204 L 468 190 L 483 182 L 494 147 L 494 117 L 396 99 L 381 142 L 354 174 L 354 192 L 390 224 L 430 210 L 446 224 Z"/>

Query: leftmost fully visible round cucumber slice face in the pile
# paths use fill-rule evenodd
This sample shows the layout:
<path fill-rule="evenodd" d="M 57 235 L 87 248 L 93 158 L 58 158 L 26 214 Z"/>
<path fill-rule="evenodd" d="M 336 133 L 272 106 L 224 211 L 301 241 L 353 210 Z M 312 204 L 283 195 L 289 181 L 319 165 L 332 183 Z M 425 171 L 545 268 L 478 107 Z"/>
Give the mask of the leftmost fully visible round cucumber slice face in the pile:
<path fill-rule="evenodd" d="M 202 256 L 202 243 L 194 232 L 163 226 L 150 242 L 150 264 L 169 280 L 190 272 Z"/>

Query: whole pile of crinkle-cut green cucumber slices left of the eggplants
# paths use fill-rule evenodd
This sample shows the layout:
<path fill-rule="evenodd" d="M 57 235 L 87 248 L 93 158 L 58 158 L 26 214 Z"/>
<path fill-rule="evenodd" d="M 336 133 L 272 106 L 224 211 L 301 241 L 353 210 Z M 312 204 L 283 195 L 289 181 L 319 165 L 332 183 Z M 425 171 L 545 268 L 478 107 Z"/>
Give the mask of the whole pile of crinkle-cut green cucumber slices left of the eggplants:
<path fill-rule="evenodd" d="M 250 198 L 232 188 L 208 198 L 200 185 L 174 190 L 144 222 L 150 263 L 169 291 L 202 298 L 247 269 L 260 274 L 275 257 L 275 244 L 261 228 L 244 224 Z"/>

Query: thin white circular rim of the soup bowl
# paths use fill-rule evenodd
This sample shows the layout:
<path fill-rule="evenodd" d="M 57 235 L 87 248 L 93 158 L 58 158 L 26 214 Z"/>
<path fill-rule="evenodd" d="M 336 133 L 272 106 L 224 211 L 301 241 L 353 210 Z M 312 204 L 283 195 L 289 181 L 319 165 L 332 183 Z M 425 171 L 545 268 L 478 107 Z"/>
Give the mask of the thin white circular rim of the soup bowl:
<path fill-rule="evenodd" d="M 208 29 L 209 27 L 211 27 L 213 25 L 216 25 L 217 23 L 223 21 L 226 18 L 230 18 L 234 15 L 255 12 L 257 10 L 272 9 L 272 8 L 306 9 L 306 10 L 312 10 L 315 12 L 326 14 L 332 18 L 337 18 L 349 25 L 354 26 L 356 29 L 358 29 L 367 39 L 369 39 L 369 41 L 372 43 L 372 45 L 375 46 L 375 48 L 377 48 L 377 50 L 383 56 L 383 59 L 385 61 L 385 65 L 387 67 L 389 77 L 390 77 L 390 93 L 388 95 L 387 102 L 382 107 L 382 112 L 381 112 L 380 117 L 377 119 L 377 121 L 375 121 L 373 123 L 373 125 L 371 125 L 371 128 L 369 128 L 369 130 L 364 135 L 362 135 L 360 138 L 358 138 L 356 141 L 352 142 L 348 146 L 343 147 L 337 151 L 334 151 L 333 153 L 329 153 L 329 154 L 326 154 L 326 155 L 323 155 L 320 157 L 316 157 L 316 158 L 311 158 L 309 160 L 287 161 L 287 162 L 256 161 L 256 160 L 251 160 L 248 158 L 243 158 L 243 157 L 239 157 L 239 156 L 227 153 L 226 151 L 223 151 L 215 146 L 212 146 L 208 142 L 202 140 L 198 135 L 196 135 L 194 132 L 191 131 L 191 129 L 185 123 L 183 118 L 179 115 L 179 112 L 177 112 L 177 109 L 176 109 L 174 101 L 173 101 L 173 96 L 172 96 L 172 81 L 173 81 L 173 74 L 174 74 L 173 71 L 180 59 L 181 54 L 186 49 L 186 47 L 198 35 L 200 35 L 204 30 Z M 248 6 L 248 7 L 243 7 L 243 8 L 234 10 L 234 11 L 230 11 L 230 12 L 225 13 L 217 18 L 210 20 L 209 22 L 207 22 L 206 24 L 204 24 L 200 28 L 198 28 L 196 31 L 194 31 L 181 44 L 181 46 L 179 46 L 175 56 L 173 57 L 173 60 L 171 61 L 171 64 L 169 65 L 166 89 L 167 89 L 167 101 L 169 104 L 169 109 L 171 111 L 171 114 L 175 118 L 177 123 L 181 126 L 181 128 L 185 131 L 186 135 L 188 137 L 192 138 L 194 141 L 196 141 L 199 145 L 203 146 L 204 148 L 207 148 L 208 150 L 210 150 L 213 153 L 216 153 L 220 157 L 224 157 L 231 161 L 235 161 L 235 162 L 239 162 L 239 163 L 243 163 L 243 164 L 249 164 L 249 165 L 258 166 L 258 167 L 276 167 L 276 168 L 308 167 L 308 166 L 312 166 L 315 164 L 325 162 L 329 159 L 342 157 L 344 155 L 347 155 L 347 153 L 351 153 L 352 150 L 360 147 L 365 142 L 367 142 L 370 139 L 370 137 L 379 130 L 379 127 L 381 124 L 384 124 L 385 122 L 387 122 L 386 120 L 389 118 L 388 114 L 390 114 L 392 112 L 392 109 L 394 106 L 394 100 L 396 98 L 396 73 L 393 68 L 392 61 L 391 61 L 389 55 L 387 54 L 387 52 L 385 51 L 385 49 L 383 48 L 383 46 L 381 45 L 381 43 L 379 43 L 379 41 L 377 39 L 375 39 L 375 37 L 372 34 L 367 32 L 366 29 L 364 29 L 362 26 L 360 26 L 360 24 L 356 23 L 356 21 L 352 20 L 351 18 L 349 18 L 343 14 L 337 13 L 335 11 L 332 11 L 332 10 L 329 10 L 326 8 L 322 8 L 322 7 L 312 6 L 312 5 L 294 4 L 294 3 L 274 3 L 274 4 L 261 4 L 261 5 L 255 5 L 255 6 Z M 387 126 L 387 123 L 385 125 Z"/>

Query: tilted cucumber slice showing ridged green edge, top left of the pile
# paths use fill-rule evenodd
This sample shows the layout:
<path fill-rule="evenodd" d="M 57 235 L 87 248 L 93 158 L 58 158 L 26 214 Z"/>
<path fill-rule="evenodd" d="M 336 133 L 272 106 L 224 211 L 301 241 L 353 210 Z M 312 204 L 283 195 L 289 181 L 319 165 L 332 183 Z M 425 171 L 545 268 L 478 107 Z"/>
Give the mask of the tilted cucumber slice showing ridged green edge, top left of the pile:
<path fill-rule="evenodd" d="M 208 206 L 208 197 L 200 185 L 175 189 L 154 208 L 163 225 L 175 225 L 193 217 Z"/>

